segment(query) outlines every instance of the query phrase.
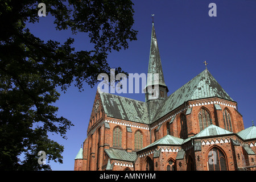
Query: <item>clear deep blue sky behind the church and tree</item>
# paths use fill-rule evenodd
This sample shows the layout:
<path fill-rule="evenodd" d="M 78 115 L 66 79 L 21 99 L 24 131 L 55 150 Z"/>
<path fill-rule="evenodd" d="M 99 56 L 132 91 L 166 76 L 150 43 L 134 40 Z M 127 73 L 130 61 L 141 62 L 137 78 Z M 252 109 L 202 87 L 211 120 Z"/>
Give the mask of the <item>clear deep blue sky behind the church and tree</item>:
<path fill-rule="evenodd" d="M 129 49 L 108 56 L 111 67 L 122 67 L 128 73 L 147 73 L 150 53 L 151 14 L 155 14 L 155 30 L 168 96 L 205 69 L 238 103 L 245 128 L 255 117 L 256 103 L 256 1 L 255 0 L 137 0 L 134 2 L 134 26 L 138 40 Z M 217 16 L 210 17 L 209 3 L 216 3 Z M 27 24 L 31 32 L 43 40 L 63 43 L 75 38 L 77 51 L 92 45 L 86 34 L 72 35 L 70 30 L 56 31 L 50 15 L 39 23 Z M 80 93 L 71 86 L 61 93 L 58 115 L 75 125 L 67 132 L 68 139 L 49 135 L 64 145 L 63 164 L 49 163 L 53 170 L 73 170 L 74 158 L 86 138 L 87 127 L 97 85 L 85 85 Z M 59 89 L 60 90 L 60 89 Z M 122 94 L 144 101 L 144 94 Z"/>

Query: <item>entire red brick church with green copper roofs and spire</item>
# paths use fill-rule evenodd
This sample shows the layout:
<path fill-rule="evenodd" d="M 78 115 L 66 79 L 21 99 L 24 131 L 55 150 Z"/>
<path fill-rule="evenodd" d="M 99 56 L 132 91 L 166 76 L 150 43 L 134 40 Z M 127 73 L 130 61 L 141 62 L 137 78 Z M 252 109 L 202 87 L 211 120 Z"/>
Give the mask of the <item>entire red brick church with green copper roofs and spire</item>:
<path fill-rule="evenodd" d="M 256 127 L 244 128 L 237 102 L 207 68 L 167 96 L 154 23 L 148 73 L 159 74 L 154 100 L 155 85 L 146 85 L 145 102 L 98 88 L 75 170 L 256 170 Z"/>

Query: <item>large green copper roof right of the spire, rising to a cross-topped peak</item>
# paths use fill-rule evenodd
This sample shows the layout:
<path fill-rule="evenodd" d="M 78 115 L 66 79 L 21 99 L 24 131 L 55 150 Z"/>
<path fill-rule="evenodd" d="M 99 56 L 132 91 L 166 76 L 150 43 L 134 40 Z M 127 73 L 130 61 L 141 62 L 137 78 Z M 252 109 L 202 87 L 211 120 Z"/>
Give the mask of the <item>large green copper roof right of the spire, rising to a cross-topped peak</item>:
<path fill-rule="evenodd" d="M 192 78 L 187 84 L 181 86 L 169 97 L 167 97 L 159 106 L 158 111 L 152 121 L 162 118 L 170 111 L 176 109 L 184 102 L 189 100 L 198 100 L 209 97 L 220 97 L 225 100 L 233 101 L 228 93 L 218 84 L 215 78 L 205 69 L 196 77 Z"/>

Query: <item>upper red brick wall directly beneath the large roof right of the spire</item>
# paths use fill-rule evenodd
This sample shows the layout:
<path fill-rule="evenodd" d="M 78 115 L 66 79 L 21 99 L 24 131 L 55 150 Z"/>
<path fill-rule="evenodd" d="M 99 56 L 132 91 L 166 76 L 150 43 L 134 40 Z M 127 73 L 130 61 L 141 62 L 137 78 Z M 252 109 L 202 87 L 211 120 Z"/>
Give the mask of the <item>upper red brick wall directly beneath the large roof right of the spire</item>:
<path fill-rule="evenodd" d="M 214 107 L 213 102 L 220 101 L 224 105 L 219 104 L 221 106 L 222 110 L 216 110 Z M 205 105 L 205 102 L 207 105 Z M 204 105 L 202 105 L 204 103 Z M 212 104 L 209 104 L 212 103 Z M 200 106 L 199 106 L 200 104 Z M 228 104 L 230 106 L 228 106 Z M 193 106 L 194 105 L 194 106 Z M 226 106 L 227 105 L 227 106 Z M 157 139 L 160 139 L 164 137 L 167 134 L 167 122 L 171 121 L 171 118 L 169 118 L 172 115 L 176 115 L 173 123 L 171 123 L 171 129 L 170 129 L 170 134 L 173 135 L 174 137 L 181 137 L 181 126 L 180 126 L 180 116 L 182 114 L 186 114 L 187 109 L 184 110 L 184 108 L 187 108 L 185 106 L 192 106 L 192 111 L 191 114 L 185 115 L 187 119 L 187 130 L 188 130 L 188 137 L 192 137 L 193 135 L 196 135 L 197 133 L 200 132 L 200 127 L 199 127 L 199 119 L 198 119 L 198 114 L 199 111 L 201 110 L 202 107 L 207 109 L 210 113 L 210 117 L 212 119 L 213 125 L 219 126 L 223 129 L 224 127 L 224 119 L 223 119 L 223 111 L 224 109 L 227 109 L 232 117 L 232 129 L 233 133 L 238 133 L 239 131 L 244 129 L 243 126 L 243 119 L 242 116 L 236 111 L 236 109 L 233 106 L 236 106 L 236 102 L 231 102 L 231 101 L 226 101 L 222 100 L 220 98 L 208 98 L 204 100 L 196 100 L 196 101 L 188 101 L 186 104 L 181 105 L 179 108 L 175 109 L 171 113 L 167 114 L 163 118 L 160 118 L 158 121 L 152 123 L 151 127 L 151 139 L 154 141 L 154 130 L 157 129 L 158 124 L 162 123 L 162 126 L 160 127 L 159 131 L 156 133 Z M 169 119 L 167 119 L 169 118 Z M 166 120 L 167 121 L 164 121 Z M 164 122 L 162 122 L 164 121 Z"/>

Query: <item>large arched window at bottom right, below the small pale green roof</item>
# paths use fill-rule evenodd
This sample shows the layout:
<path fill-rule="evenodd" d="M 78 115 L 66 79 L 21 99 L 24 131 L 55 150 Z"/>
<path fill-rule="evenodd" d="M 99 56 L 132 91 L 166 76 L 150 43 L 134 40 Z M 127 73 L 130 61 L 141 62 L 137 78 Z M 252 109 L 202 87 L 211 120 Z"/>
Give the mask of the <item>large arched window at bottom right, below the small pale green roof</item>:
<path fill-rule="evenodd" d="M 223 152 L 213 147 L 208 153 L 208 170 L 209 171 L 226 171 L 226 158 Z"/>

